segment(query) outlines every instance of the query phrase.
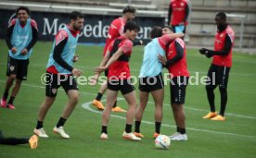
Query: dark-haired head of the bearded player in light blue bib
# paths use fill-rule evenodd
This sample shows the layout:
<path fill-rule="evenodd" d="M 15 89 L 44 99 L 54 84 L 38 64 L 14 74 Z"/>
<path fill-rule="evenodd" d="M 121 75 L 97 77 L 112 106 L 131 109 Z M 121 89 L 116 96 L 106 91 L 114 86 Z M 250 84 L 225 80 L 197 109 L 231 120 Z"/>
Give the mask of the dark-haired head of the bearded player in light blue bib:
<path fill-rule="evenodd" d="M 74 30 L 82 30 L 83 29 L 84 18 L 82 13 L 78 11 L 73 11 L 70 14 L 70 27 Z"/>

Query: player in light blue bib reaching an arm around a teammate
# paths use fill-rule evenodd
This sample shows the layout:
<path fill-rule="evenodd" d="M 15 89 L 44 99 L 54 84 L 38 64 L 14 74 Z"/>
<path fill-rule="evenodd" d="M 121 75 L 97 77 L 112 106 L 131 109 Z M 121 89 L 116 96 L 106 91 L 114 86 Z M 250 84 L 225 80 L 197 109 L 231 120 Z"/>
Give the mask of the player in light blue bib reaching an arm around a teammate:
<path fill-rule="evenodd" d="M 158 55 L 165 55 L 168 43 L 176 37 L 183 37 L 184 33 L 162 35 L 162 28 L 155 27 L 150 31 L 152 41 L 144 48 L 142 67 L 139 74 L 139 100 L 140 104 L 136 108 L 134 135 L 143 138 L 140 133 L 140 124 L 143 113 L 147 106 L 148 94 L 151 93 L 155 102 L 155 133 L 153 138 L 160 135 L 160 125 L 162 120 L 162 103 L 164 97 L 162 64 L 158 60 Z"/>

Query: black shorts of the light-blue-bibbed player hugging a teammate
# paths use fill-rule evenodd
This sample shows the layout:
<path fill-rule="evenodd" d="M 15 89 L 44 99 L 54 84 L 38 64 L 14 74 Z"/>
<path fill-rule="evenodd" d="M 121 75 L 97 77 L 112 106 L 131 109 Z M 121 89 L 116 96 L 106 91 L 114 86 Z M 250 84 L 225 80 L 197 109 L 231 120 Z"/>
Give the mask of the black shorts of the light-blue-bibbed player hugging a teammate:
<path fill-rule="evenodd" d="M 145 77 L 139 79 L 139 90 L 140 91 L 156 91 L 163 89 L 164 82 L 161 73 L 155 77 Z"/>

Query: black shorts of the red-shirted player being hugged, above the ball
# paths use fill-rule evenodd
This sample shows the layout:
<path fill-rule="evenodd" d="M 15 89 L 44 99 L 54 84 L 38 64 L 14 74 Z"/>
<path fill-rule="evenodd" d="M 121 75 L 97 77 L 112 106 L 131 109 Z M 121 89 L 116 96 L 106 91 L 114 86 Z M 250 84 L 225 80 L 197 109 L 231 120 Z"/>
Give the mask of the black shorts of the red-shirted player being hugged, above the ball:
<path fill-rule="evenodd" d="M 171 79 L 170 93 L 171 103 L 184 104 L 186 99 L 186 85 L 188 84 L 188 77 L 179 76 Z"/>

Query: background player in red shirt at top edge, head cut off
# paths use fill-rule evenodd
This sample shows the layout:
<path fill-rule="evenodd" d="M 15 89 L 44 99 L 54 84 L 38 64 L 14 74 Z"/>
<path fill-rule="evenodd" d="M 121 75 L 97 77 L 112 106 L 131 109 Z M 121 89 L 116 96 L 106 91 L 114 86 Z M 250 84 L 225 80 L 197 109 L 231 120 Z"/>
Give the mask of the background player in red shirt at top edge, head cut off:
<path fill-rule="evenodd" d="M 189 0 L 171 0 L 168 10 L 168 25 L 174 32 L 186 33 L 187 18 L 189 15 Z"/>

